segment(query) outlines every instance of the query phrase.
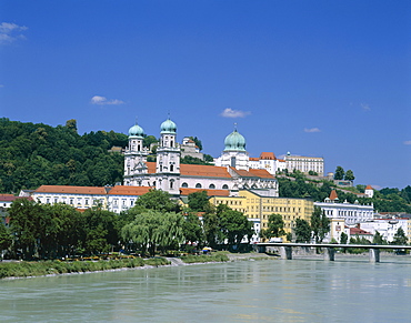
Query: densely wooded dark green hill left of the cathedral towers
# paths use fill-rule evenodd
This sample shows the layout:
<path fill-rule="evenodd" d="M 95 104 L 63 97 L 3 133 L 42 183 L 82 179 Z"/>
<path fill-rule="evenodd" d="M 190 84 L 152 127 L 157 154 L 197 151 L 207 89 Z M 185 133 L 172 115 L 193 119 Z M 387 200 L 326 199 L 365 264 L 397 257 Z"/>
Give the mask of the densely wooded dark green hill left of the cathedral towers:
<path fill-rule="evenodd" d="M 49 185 L 112 185 L 122 181 L 126 134 L 98 131 L 80 135 L 76 120 L 56 128 L 0 119 L 0 192 Z"/>

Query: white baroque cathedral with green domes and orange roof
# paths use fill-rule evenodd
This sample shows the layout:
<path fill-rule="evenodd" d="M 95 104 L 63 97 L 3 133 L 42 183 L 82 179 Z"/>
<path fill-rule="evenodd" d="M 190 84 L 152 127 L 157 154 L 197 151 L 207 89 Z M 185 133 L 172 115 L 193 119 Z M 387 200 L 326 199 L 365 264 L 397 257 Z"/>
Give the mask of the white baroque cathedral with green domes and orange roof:
<path fill-rule="evenodd" d="M 278 181 L 264 169 L 250 169 L 245 139 L 234 129 L 224 140 L 224 150 L 215 165 L 181 164 L 177 125 L 170 119 L 161 123 L 157 161 L 148 162 L 143 147 L 144 131 L 134 124 L 129 130 L 124 152 L 124 185 L 146 186 L 169 192 L 173 196 L 189 190 L 224 192 L 237 196 L 239 190 L 250 190 L 264 196 L 278 196 Z"/>

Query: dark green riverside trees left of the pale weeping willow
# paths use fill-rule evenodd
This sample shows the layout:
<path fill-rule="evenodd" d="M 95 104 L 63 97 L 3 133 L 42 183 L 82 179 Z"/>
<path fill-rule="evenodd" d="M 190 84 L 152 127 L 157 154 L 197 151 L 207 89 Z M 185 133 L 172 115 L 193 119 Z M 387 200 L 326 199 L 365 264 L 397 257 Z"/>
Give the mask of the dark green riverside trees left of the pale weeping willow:
<path fill-rule="evenodd" d="M 108 252 L 119 241 L 114 213 L 93 208 L 84 213 L 67 204 L 16 200 L 10 208 L 13 254 L 26 260 L 56 259 L 77 251 Z"/>

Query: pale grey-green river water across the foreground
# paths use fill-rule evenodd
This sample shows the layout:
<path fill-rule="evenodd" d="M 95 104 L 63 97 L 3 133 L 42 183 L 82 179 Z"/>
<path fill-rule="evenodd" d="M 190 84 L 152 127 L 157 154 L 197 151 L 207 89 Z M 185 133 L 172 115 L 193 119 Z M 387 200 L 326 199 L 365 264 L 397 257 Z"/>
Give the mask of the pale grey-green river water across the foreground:
<path fill-rule="evenodd" d="M 1 322 L 410 322 L 411 258 L 241 261 L 0 281 Z"/>

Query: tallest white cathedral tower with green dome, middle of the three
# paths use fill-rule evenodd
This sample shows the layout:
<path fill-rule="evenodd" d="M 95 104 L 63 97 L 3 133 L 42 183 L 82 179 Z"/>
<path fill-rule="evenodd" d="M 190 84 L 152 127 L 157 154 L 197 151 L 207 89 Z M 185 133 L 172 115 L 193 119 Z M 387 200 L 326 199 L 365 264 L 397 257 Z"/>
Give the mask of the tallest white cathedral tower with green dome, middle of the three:
<path fill-rule="evenodd" d="M 156 189 L 180 194 L 180 148 L 177 144 L 177 125 L 167 119 L 161 123 L 160 145 L 157 149 Z"/>

